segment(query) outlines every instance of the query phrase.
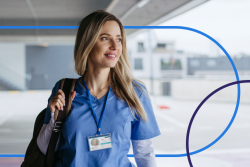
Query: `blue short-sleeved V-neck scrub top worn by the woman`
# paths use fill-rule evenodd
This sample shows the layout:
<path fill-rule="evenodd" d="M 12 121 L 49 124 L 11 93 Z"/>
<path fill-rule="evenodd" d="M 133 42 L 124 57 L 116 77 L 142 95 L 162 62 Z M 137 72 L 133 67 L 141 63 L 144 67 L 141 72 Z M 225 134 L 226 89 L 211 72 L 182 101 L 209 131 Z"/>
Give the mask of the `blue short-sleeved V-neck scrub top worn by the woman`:
<path fill-rule="evenodd" d="M 54 86 L 48 101 L 56 95 L 59 87 L 60 81 Z M 111 90 L 103 116 L 101 134 L 111 133 L 112 148 L 90 152 L 87 137 L 96 135 L 97 125 L 92 115 L 87 91 L 78 79 L 75 84 L 76 95 L 72 101 L 71 113 L 63 126 L 58 149 L 60 160 L 56 163 L 56 167 L 134 167 L 127 158 L 130 140 L 150 139 L 161 134 L 150 100 L 135 86 L 134 89 L 148 115 L 148 121 L 145 123 L 138 116 L 135 119 L 127 103 L 124 100 L 118 100 Z M 97 99 L 91 95 L 98 119 L 106 96 L 107 94 Z M 49 123 L 50 113 L 50 108 L 47 107 L 44 124 Z"/>

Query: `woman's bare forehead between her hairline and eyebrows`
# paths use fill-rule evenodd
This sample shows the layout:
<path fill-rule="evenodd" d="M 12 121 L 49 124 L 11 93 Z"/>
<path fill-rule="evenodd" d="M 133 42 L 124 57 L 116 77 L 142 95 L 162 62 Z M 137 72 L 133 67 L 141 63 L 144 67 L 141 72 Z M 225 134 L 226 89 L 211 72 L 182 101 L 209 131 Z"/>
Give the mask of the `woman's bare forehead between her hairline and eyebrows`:
<path fill-rule="evenodd" d="M 110 35 L 121 35 L 121 29 L 119 24 L 116 21 L 107 21 L 104 23 L 101 33 L 107 33 Z"/>

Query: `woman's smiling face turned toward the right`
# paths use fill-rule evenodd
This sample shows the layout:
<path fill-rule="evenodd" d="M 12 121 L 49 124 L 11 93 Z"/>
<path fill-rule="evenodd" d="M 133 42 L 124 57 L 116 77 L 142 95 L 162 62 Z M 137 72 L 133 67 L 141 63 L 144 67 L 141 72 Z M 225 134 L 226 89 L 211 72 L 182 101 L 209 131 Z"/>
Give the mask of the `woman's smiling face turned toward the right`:
<path fill-rule="evenodd" d="M 122 37 L 119 24 L 107 21 L 88 57 L 88 65 L 94 68 L 115 67 L 122 53 Z"/>

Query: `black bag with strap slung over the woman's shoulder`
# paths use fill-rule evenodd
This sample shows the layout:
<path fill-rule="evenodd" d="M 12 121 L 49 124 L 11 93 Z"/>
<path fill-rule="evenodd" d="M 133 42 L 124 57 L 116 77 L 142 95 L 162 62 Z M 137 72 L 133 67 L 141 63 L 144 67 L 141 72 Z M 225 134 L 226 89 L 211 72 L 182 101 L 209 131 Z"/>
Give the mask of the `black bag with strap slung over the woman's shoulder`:
<path fill-rule="evenodd" d="M 65 94 L 65 106 L 64 109 L 59 112 L 57 120 L 55 121 L 56 126 L 54 126 L 46 156 L 40 151 L 36 142 L 39 132 L 44 123 L 44 118 L 46 113 L 46 108 L 45 108 L 38 114 L 36 118 L 33 136 L 26 150 L 24 161 L 21 164 L 21 167 L 53 167 L 55 165 L 57 159 L 57 153 L 55 152 L 55 147 L 59 133 L 63 127 L 63 123 L 68 114 L 70 114 L 71 103 L 72 103 L 71 93 L 74 91 L 75 82 L 76 79 L 66 78 L 61 80 L 61 89 Z"/>

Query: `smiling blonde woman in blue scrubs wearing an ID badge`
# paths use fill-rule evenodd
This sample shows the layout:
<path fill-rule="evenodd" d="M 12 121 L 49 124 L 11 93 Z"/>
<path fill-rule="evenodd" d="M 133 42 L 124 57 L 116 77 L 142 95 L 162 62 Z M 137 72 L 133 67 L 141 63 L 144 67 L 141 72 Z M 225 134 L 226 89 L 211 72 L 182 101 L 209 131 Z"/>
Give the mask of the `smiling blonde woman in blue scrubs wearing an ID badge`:
<path fill-rule="evenodd" d="M 155 167 L 152 138 L 160 135 L 143 83 L 133 77 L 121 22 L 96 11 L 78 28 L 74 48 L 75 70 L 80 77 L 72 93 L 68 115 L 56 150 L 56 167 L 133 167 L 127 153 L 130 141 L 138 167 Z M 58 81 L 52 90 L 44 125 L 37 138 L 45 154 L 56 108 L 64 106 Z M 99 124 L 102 120 L 102 124 Z M 90 139 L 107 140 L 92 151 Z"/>

